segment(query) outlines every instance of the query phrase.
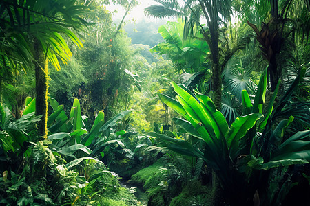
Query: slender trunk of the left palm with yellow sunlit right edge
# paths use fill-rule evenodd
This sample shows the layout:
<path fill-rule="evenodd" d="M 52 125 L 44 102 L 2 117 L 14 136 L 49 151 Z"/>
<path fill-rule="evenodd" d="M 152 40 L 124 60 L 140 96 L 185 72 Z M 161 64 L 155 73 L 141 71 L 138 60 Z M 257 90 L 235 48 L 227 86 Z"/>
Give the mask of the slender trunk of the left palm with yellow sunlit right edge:
<path fill-rule="evenodd" d="M 34 39 L 34 69 L 36 76 L 36 115 L 42 115 L 38 124 L 39 135 L 48 135 L 48 60 L 45 58 L 39 41 Z"/>

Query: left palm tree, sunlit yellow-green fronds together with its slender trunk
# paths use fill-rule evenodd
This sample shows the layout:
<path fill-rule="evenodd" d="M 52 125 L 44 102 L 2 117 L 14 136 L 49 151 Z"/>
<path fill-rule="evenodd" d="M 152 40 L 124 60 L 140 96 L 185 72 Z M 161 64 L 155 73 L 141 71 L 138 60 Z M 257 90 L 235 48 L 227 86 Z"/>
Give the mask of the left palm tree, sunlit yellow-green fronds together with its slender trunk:
<path fill-rule="evenodd" d="M 60 69 L 72 56 L 63 36 L 83 47 L 73 30 L 87 24 L 80 16 L 86 7 L 76 0 L 3 0 L 0 2 L 1 65 L 29 69 L 34 65 L 36 76 L 36 115 L 42 115 L 39 135 L 47 135 L 48 61 Z"/>

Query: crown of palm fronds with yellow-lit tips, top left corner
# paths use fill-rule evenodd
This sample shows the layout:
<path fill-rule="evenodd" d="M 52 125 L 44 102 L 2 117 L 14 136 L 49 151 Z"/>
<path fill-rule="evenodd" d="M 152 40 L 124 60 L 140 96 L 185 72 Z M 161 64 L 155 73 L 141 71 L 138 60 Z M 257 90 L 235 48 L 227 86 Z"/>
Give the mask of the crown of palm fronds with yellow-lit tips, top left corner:
<path fill-rule="evenodd" d="M 79 30 L 87 24 L 81 19 L 87 10 L 84 6 L 76 5 L 76 0 L 4 0 L 0 5 L 3 8 L 0 15 L 2 55 L 13 62 L 12 65 L 26 67 L 31 60 L 36 60 L 32 55 L 34 38 L 39 41 L 45 56 L 56 69 L 60 69 L 58 58 L 67 62 L 72 56 L 63 36 L 83 47 L 76 34 L 70 30 L 70 27 Z"/>

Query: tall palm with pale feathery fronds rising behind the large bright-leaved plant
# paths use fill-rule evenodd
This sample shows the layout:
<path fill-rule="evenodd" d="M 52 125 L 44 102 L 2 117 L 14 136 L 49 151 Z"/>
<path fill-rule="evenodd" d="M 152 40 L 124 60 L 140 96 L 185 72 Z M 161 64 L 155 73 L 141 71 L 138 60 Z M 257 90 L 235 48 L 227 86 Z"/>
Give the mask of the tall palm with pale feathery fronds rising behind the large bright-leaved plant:
<path fill-rule="evenodd" d="M 231 14 L 231 0 L 183 0 L 181 6 L 177 0 L 155 0 L 161 5 L 151 5 L 145 9 L 150 16 L 164 18 L 167 16 L 183 17 L 187 26 L 185 36 L 189 35 L 195 25 L 200 27 L 205 41 L 210 48 L 211 59 L 211 88 L 214 91 L 214 104 L 221 108 L 222 78 L 219 49 L 219 25 L 229 19 Z M 207 29 L 200 24 L 200 16 L 207 21 Z"/>

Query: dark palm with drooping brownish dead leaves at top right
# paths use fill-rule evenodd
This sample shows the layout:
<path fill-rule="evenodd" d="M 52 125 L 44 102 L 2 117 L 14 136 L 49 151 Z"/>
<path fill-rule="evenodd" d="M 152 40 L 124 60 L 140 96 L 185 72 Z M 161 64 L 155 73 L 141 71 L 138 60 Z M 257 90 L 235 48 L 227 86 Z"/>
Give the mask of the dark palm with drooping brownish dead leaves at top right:
<path fill-rule="evenodd" d="M 294 3 L 297 4 L 292 6 Z M 298 2 L 293 0 L 245 0 L 244 10 L 247 14 L 249 14 L 249 11 L 251 12 L 254 8 L 260 8 L 258 10 L 258 15 L 266 20 L 268 18 L 268 12 L 271 12 L 271 19 L 269 19 L 268 23 L 262 22 L 260 30 L 258 30 L 256 25 L 249 21 L 248 24 L 256 32 L 256 39 L 258 40 L 258 43 L 260 43 L 262 56 L 264 56 L 269 63 L 268 74 L 270 79 L 270 89 L 272 92 L 276 89 L 278 80 L 281 77 L 280 52 L 282 51 L 285 41 L 287 41 L 289 37 L 288 34 L 294 34 L 294 30 L 296 29 L 289 29 L 291 26 L 287 25 L 290 21 L 295 21 L 295 24 L 297 24 L 296 20 L 289 19 L 289 11 L 291 8 L 294 8 L 293 13 L 301 13 L 303 9 L 306 10 L 306 5 L 309 9 L 309 1 L 304 1 L 304 4 L 305 5 L 303 5 L 302 1 Z M 307 13 L 309 15 L 309 12 Z M 307 19 L 304 20 L 307 22 Z M 288 29 L 291 31 L 287 32 L 286 30 Z M 307 33 L 307 36 L 309 36 L 309 30 L 304 33 Z"/>

